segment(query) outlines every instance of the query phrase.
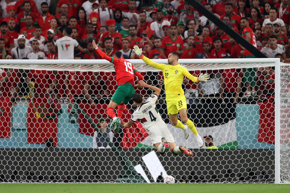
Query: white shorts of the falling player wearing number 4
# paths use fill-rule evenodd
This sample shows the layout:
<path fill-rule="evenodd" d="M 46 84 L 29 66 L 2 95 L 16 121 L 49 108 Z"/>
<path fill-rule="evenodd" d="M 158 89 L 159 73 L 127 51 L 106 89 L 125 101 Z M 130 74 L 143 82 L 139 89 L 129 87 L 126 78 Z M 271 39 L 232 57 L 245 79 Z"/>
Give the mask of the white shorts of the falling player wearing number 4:
<path fill-rule="evenodd" d="M 170 133 L 169 129 L 167 128 L 167 125 L 158 125 L 150 127 L 149 129 L 149 135 L 151 138 L 151 142 L 153 144 L 161 143 L 161 138 L 165 137 L 167 142 L 169 143 L 175 143 L 175 140 Z M 153 145 L 154 147 L 154 145 Z"/>

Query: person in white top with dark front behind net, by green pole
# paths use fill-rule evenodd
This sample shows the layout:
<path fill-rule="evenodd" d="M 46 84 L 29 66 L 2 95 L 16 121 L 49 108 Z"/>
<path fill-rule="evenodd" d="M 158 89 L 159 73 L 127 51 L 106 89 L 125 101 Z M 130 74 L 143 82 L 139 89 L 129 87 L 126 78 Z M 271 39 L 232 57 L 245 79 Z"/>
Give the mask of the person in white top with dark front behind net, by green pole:
<path fill-rule="evenodd" d="M 109 137 L 110 141 L 113 141 L 114 134 L 113 132 L 108 129 L 108 121 L 104 119 L 99 120 L 100 125 L 101 125 L 101 132 L 102 134 L 98 133 L 98 131 L 94 132 L 94 137 L 93 137 L 93 148 L 95 149 L 104 149 L 104 148 L 111 148 L 108 144 L 108 142 L 105 140 L 103 135 L 106 137 Z"/>

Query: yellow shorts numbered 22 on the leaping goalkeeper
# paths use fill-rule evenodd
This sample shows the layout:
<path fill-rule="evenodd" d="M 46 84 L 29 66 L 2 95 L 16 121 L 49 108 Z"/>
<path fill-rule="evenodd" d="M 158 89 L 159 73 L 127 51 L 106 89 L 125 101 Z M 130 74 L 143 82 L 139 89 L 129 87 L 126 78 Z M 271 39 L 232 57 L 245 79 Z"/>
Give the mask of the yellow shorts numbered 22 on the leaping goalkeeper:
<path fill-rule="evenodd" d="M 185 96 L 166 96 L 167 114 L 174 115 L 180 109 L 187 109 Z"/>

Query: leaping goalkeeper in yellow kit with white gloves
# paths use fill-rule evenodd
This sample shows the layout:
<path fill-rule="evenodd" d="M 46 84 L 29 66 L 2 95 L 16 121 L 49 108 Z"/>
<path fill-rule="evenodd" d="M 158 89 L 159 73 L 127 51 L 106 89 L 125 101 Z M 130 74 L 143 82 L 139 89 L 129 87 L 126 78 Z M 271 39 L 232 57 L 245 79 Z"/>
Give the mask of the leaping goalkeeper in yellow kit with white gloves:
<path fill-rule="evenodd" d="M 171 125 L 183 129 L 184 138 L 188 138 L 188 128 L 195 134 L 198 146 L 203 147 L 203 140 L 198 134 L 194 123 L 187 118 L 187 105 L 182 90 L 182 81 L 184 76 L 192 80 L 193 82 L 207 81 L 208 74 L 200 74 L 199 77 L 195 77 L 189 74 L 188 70 L 177 63 L 179 55 L 176 52 L 171 52 L 168 55 L 168 65 L 158 64 L 142 55 L 142 48 L 134 46 L 133 51 L 144 61 L 146 64 L 153 66 L 154 68 L 160 69 L 164 76 L 164 86 L 166 94 L 167 114 L 170 119 Z M 178 112 L 182 122 L 177 119 Z"/>

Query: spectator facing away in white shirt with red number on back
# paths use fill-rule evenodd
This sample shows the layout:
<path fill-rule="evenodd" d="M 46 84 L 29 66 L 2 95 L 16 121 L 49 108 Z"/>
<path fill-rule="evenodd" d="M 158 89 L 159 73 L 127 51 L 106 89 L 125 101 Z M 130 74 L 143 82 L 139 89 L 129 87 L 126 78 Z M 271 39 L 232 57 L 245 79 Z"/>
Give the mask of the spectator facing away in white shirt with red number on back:
<path fill-rule="evenodd" d="M 76 40 L 70 37 L 71 34 L 72 28 L 66 27 L 63 30 L 63 37 L 55 42 L 55 46 L 57 46 L 58 51 L 58 59 L 60 60 L 74 59 L 73 56 L 75 48 L 80 52 L 87 51 L 86 48 L 82 48 Z"/>

